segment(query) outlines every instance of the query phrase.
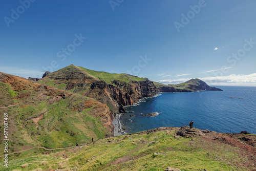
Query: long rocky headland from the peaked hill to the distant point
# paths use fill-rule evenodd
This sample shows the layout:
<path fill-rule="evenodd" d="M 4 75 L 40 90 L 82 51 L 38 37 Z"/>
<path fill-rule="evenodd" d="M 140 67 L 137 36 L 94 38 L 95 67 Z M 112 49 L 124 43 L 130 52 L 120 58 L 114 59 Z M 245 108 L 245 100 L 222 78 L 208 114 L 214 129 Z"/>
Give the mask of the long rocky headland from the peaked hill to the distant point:
<path fill-rule="evenodd" d="M 177 85 L 164 85 L 147 78 L 98 72 L 74 65 L 53 73 L 48 72 L 36 82 L 48 85 L 54 82 L 55 88 L 93 98 L 106 104 L 113 117 L 118 113 L 126 113 L 125 106 L 137 105 L 141 100 L 155 97 L 161 92 L 221 91 L 221 89 L 209 87 L 200 79 L 190 79 Z"/>

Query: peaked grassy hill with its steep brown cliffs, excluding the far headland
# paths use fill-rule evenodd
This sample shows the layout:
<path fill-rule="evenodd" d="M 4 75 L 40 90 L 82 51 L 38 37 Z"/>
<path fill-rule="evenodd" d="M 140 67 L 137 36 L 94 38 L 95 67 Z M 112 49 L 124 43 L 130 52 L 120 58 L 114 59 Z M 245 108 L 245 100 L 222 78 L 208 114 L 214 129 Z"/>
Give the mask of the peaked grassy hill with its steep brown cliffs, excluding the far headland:
<path fill-rule="evenodd" d="M 96 72 L 74 65 L 53 72 L 38 82 L 95 98 L 108 105 L 114 113 L 124 112 L 120 106 L 132 105 L 158 92 L 153 81 L 146 78 Z"/>

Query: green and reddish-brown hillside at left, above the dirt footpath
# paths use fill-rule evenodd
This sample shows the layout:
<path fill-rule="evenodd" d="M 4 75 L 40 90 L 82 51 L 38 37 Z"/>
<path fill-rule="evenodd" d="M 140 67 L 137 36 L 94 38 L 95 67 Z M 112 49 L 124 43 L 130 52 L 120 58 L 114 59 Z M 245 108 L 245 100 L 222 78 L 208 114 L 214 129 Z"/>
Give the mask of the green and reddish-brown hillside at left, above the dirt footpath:
<path fill-rule="evenodd" d="M 8 113 L 10 152 L 33 146 L 66 147 L 112 135 L 110 109 L 89 97 L 4 73 L 0 73 L 0 91 L 0 113 Z M 0 134 L 4 135 L 2 122 Z"/>

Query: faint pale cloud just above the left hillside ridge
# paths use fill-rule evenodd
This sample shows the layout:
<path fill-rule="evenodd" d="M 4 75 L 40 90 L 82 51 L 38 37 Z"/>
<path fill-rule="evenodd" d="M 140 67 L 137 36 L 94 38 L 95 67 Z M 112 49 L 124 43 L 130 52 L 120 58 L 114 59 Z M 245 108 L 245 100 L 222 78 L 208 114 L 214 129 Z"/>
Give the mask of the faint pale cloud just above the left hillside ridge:
<path fill-rule="evenodd" d="M 20 77 L 41 77 L 44 72 L 41 71 L 34 71 L 34 70 L 26 70 L 26 69 L 20 69 L 16 67 L 0 67 L 0 72 L 4 72 L 7 74 L 12 74 Z"/>

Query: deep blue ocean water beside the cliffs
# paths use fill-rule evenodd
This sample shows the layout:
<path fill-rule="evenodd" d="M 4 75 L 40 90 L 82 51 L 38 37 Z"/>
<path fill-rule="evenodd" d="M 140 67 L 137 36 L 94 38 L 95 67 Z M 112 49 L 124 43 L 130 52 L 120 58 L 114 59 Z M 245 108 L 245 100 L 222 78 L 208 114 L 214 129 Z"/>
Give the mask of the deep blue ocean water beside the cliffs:
<path fill-rule="evenodd" d="M 256 87 L 217 86 L 223 91 L 159 93 L 141 100 L 120 116 L 125 133 L 162 126 L 188 125 L 222 133 L 247 131 L 256 134 Z M 147 113 L 157 116 L 142 116 Z M 130 116 L 135 115 L 135 116 Z"/>

